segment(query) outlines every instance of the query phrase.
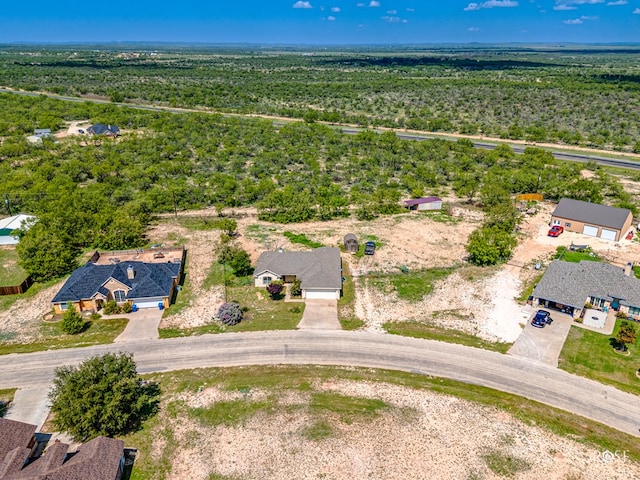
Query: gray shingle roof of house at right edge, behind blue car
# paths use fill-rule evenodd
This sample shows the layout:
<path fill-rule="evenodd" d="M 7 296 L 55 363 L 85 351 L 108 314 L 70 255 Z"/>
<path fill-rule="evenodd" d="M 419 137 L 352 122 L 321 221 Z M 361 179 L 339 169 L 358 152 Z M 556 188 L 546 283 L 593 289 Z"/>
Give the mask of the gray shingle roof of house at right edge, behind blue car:
<path fill-rule="evenodd" d="M 608 263 L 582 260 L 580 263 L 554 260 L 533 290 L 535 298 L 582 308 L 591 296 L 640 307 L 640 280 Z"/>

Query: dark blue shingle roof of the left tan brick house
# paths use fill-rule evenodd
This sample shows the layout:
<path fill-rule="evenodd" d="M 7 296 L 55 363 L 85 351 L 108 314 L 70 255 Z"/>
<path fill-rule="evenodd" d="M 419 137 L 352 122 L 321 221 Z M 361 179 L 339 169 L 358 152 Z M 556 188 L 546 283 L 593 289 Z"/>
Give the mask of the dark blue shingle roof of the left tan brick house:
<path fill-rule="evenodd" d="M 132 266 L 135 278 L 127 278 L 127 267 Z M 131 290 L 127 299 L 166 297 L 171 293 L 173 279 L 180 274 L 180 262 L 144 263 L 123 262 L 115 265 L 86 263 L 75 270 L 53 297 L 53 303 L 77 302 L 92 298 L 97 292 L 105 294 L 103 285 L 113 278 Z"/>

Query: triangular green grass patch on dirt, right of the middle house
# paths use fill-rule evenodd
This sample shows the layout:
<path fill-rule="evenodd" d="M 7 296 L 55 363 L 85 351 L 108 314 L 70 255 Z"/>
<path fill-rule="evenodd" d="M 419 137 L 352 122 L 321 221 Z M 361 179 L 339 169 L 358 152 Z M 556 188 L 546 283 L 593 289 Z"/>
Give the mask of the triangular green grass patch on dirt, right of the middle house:
<path fill-rule="evenodd" d="M 433 291 L 436 281 L 450 275 L 454 268 L 431 268 L 428 270 L 407 271 L 391 275 L 372 274 L 371 285 L 385 293 L 392 291 L 402 300 L 417 302 Z"/>

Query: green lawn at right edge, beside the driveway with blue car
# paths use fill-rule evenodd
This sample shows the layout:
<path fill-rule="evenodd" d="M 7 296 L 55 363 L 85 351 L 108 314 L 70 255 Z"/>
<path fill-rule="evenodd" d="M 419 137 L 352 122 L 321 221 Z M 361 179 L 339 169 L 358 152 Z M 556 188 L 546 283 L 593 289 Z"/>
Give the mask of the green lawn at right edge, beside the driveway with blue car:
<path fill-rule="evenodd" d="M 558 366 L 570 373 L 613 385 L 620 390 L 640 394 L 640 378 L 635 372 L 640 367 L 640 345 L 629 345 L 628 356 L 616 352 L 611 346 L 621 320 L 616 322 L 612 335 L 571 327 Z M 640 331 L 640 325 L 636 324 Z"/>

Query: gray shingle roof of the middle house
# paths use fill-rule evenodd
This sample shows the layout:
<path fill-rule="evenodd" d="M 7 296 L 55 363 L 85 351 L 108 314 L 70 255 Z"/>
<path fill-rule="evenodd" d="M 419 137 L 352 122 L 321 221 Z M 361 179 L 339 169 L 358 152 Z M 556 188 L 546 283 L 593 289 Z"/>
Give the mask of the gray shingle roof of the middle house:
<path fill-rule="evenodd" d="M 303 289 L 342 288 L 340 249 L 316 248 L 309 252 L 264 252 L 256 264 L 255 276 L 264 272 L 295 275 Z"/>

